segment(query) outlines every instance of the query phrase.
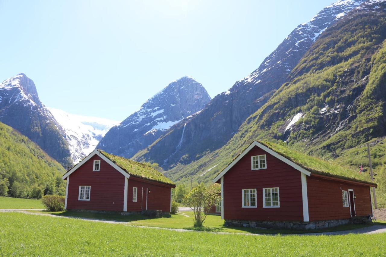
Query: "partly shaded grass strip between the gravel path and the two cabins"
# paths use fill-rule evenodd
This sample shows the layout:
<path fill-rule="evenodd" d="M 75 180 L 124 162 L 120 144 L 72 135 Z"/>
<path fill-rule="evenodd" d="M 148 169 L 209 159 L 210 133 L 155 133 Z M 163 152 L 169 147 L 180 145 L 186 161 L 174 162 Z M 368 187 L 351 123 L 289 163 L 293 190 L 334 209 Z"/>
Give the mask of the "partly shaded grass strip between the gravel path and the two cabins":
<path fill-rule="evenodd" d="M 277 229 L 258 229 L 258 228 L 242 228 L 242 227 L 225 227 L 224 221 L 221 220 L 221 217 L 218 215 L 208 215 L 204 221 L 204 228 L 194 228 L 193 220 L 194 215 L 192 211 L 183 212 L 183 214 L 188 215 L 186 217 L 182 214 L 170 215 L 163 218 L 149 218 L 142 215 L 126 215 L 122 216 L 119 213 L 97 213 L 97 212 L 88 212 L 88 211 L 32 211 L 39 213 L 48 213 L 58 216 L 71 216 L 71 217 L 81 217 L 81 218 L 91 218 L 97 220 L 112 220 L 112 221 L 123 221 L 127 222 L 129 225 L 139 225 L 147 227 L 160 227 L 160 228 L 183 228 L 188 230 L 202 230 L 210 232 L 231 232 L 231 233 L 254 233 L 254 234 L 294 234 L 294 233 L 310 233 L 310 232 L 330 232 L 330 231 L 342 231 L 350 230 L 354 228 L 366 227 L 369 225 L 361 224 L 347 224 L 342 226 L 337 226 L 333 228 L 325 228 L 320 230 L 277 230 Z M 386 224 L 384 224 L 386 225 Z"/>

